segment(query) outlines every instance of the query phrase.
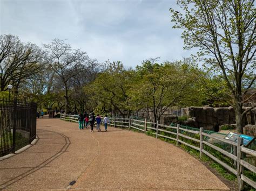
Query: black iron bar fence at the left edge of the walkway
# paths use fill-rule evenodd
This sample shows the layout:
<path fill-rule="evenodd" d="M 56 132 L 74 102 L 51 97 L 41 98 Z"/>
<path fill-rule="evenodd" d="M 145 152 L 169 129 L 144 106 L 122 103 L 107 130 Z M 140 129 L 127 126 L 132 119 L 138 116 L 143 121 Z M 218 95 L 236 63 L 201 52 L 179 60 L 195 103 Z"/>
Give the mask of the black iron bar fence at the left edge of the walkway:
<path fill-rule="evenodd" d="M 36 111 L 34 102 L 0 100 L 0 157 L 36 138 Z"/>

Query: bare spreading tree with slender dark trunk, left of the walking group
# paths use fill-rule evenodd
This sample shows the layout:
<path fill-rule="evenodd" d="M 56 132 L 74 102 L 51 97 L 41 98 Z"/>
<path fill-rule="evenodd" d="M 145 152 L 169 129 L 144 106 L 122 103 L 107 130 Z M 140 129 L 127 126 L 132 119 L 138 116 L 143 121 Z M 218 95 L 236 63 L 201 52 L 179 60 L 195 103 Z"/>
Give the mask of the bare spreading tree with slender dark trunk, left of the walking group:
<path fill-rule="evenodd" d="M 76 68 L 87 60 L 85 52 L 72 49 L 65 40 L 53 39 L 51 44 L 44 44 L 46 62 L 51 66 L 65 90 L 65 113 L 69 111 L 69 80 L 77 75 Z"/>

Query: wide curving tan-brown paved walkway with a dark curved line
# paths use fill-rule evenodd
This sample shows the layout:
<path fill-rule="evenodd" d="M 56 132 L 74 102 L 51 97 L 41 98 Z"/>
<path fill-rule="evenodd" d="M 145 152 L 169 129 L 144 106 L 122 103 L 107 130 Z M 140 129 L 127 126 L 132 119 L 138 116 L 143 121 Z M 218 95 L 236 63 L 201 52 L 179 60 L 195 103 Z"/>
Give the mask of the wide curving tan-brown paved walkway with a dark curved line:
<path fill-rule="evenodd" d="M 143 133 L 47 118 L 37 128 L 36 145 L 0 162 L 0 189 L 228 190 L 190 154 Z"/>

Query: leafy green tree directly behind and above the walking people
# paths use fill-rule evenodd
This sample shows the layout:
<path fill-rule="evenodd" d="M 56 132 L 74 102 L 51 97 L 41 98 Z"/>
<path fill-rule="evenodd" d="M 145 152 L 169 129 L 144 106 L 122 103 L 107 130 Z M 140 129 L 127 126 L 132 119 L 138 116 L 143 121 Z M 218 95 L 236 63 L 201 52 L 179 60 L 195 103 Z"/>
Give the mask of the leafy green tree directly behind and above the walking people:
<path fill-rule="evenodd" d="M 97 108 L 118 112 L 123 118 L 130 116 L 132 103 L 128 92 L 133 76 L 133 70 L 124 69 L 122 62 L 109 63 L 105 72 L 100 73 L 90 86 Z"/>

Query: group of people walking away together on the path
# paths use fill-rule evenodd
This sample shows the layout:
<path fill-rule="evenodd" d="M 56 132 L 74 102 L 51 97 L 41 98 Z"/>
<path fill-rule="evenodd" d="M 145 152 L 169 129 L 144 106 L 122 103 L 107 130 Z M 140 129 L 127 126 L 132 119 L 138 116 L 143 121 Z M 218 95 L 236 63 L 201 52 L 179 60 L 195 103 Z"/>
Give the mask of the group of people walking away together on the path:
<path fill-rule="evenodd" d="M 95 115 L 92 113 L 89 117 L 89 115 L 87 115 L 86 113 L 84 114 L 80 114 L 78 115 L 78 123 L 79 123 L 79 129 L 88 129 L 89 125 L 91 127 L 91 132 L 93 132 L 93 126 L 95 124 L 96 121 L 96 129 L 97 131 L 101 131 L 100 130 L 100 124 L 102 124 L 102 118 L 100 117 L 100 115 L 98 114 L 96 117 Z M 105 131 L 107 131 L 107 124 L 109 124 L 109 117 L 107 117 L 107 115 L 105 115 L 104 119 L 103 119 L 103 124 L 105 127 Z"/>

